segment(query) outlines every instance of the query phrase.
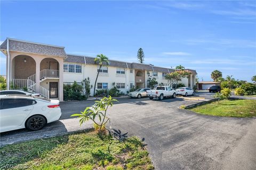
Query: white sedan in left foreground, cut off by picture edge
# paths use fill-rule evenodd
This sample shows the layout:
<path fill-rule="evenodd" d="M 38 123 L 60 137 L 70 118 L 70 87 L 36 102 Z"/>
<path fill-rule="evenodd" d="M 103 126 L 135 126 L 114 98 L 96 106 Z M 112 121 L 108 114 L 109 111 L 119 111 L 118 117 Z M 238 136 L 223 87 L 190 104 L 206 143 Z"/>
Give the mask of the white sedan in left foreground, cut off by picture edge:
<path fill-rule="evenodd" d="M 22 128 L 36 131 L 61 116 L 59 100 L 42 97 L 2 95 L 0 106 L 0 132 Z"/>

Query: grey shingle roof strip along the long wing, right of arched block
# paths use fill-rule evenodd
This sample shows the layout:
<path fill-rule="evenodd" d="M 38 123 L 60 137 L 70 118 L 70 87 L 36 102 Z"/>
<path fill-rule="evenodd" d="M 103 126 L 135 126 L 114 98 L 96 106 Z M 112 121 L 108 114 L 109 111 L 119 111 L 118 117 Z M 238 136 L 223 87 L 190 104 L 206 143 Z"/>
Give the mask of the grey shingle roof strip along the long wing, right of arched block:
<path fill-rule="evenodd" d="M 85 63 L 84 63 L 84 57 L 85 57 Z M 64 62 L 80 63 L 80 64 L 95 64 L 94 58 L 95 57 L 68 54 Z M 128 69 L 140 69 L 140 70 L 148 70 L 148 71 L 153 71 L 154 69 L 154 71 L 156 72 L 163 72 L 163 73 L 169 73 L 169 72 L 172 73 L 175 71 L 174 69 L 157 67 L 149 64 L 127 63 L 127 62 L 121 62 L 121 61 L 115 61 L 115 60 L 109 60 L 109 66 L 121 67 L 121 68 L 127 68 L 128 66 Z M 191 70 L 191 69 L 186 69 L 186 70 L 190 71 L 192 74 L 197 74 L 195 70 Z"/>

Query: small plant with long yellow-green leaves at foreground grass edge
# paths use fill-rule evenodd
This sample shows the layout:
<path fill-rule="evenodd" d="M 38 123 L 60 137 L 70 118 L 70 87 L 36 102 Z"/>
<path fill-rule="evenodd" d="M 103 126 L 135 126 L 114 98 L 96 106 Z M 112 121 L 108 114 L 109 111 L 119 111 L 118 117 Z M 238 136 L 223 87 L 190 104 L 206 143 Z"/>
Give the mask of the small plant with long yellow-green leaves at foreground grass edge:
<path fill-rule="evenodd" d="M 79 123 L 82 125 L 85 121 L 92 120 L 95 129 L 99 129 L 99 132 L 105 127 L 105 124 L 110 121 L 110 118 L 106 116 L 109 107 L 113 106 L 114 101 L 111 96 L 103 97 L 99 101 L 95 101 L 95 104 L 90 108 L 86 107 L 84 112 L 76 113 L 71 116 L 78 116 Z M 99 121 L 98 121 L 99 120 Z"/>

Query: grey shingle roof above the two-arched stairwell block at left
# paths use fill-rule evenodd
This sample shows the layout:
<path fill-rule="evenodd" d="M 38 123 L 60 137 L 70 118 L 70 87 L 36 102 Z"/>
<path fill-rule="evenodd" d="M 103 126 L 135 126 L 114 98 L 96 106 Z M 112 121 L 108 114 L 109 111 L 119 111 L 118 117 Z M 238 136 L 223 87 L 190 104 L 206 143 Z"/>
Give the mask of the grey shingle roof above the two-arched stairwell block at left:
<path fill-rule="evenodd" d="M 15 52 L 25 52 L 33 54 L 44 54 L 50 56 L 66 57 L 65 47 L 33 43 L 18 39 L 9 39 L 9 50 Z M 0 46 L 0 49 L 7 49 L 7 39 Z"/>

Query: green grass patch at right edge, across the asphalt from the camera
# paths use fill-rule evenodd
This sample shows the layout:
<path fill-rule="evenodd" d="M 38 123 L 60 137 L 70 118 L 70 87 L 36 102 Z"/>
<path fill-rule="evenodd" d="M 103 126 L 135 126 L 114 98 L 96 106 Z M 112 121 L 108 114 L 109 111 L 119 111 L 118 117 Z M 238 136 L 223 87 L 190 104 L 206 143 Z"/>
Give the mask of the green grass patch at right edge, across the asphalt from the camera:
<path fill-rule="evenodd" d="M 256 100 L 221 100 L 189 110 L 214 116 L 253 117 L 256 116 Z"/>

